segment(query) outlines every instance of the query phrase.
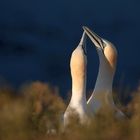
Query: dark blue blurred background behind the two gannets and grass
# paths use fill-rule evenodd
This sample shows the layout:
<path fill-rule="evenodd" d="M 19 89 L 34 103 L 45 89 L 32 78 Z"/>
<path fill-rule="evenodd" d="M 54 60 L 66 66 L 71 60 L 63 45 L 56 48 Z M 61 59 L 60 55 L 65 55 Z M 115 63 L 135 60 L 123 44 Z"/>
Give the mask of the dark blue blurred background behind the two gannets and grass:
<path fill-rule="evenodd" d="M 118 50 L 114 86 L 134 88 L 140 79 L 139 0 L 0 1 L 0 80 L 15 87 L 45 81 L 71 89 L 69 59 L 86 25 Z M 88 89 L 94 87 L 98 56 L 87 40 Z"/>

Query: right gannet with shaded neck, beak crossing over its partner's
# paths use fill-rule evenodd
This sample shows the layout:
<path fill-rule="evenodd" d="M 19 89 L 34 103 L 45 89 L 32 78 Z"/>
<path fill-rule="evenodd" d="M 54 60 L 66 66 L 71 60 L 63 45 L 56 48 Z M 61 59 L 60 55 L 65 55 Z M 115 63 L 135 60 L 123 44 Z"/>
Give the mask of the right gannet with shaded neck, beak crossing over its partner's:
<path fill-rule="evenodd" d="M 112 83 L 116 70 L 117 50 L 111 42 L 99 37 L 89 28 L 84 26 L 83 29 L 95 44 L 100 63 L 95 88 L 87 101 L 88 108 L 95 114 L 101 108 L 107 107 L 106 109 L 111 109 L 115 112 L 117 118 L 122 118 L 125 115 L 115 106 L 112 97 Z"/>

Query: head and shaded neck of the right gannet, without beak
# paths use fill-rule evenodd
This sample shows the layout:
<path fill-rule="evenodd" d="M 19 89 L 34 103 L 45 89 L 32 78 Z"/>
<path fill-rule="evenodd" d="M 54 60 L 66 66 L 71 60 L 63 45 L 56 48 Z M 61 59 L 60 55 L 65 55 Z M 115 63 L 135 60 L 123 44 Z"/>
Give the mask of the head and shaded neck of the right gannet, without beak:
<path fill-rule="evenodd" d="M 117 50 L 112 43 L 103 40 L 105 45 L 103 51 L 97 49 L 99 56 L 99 72 L 94 89 L 94 93 L 98 92 L 112 92 L 113 78 L 117 63 Z"/>

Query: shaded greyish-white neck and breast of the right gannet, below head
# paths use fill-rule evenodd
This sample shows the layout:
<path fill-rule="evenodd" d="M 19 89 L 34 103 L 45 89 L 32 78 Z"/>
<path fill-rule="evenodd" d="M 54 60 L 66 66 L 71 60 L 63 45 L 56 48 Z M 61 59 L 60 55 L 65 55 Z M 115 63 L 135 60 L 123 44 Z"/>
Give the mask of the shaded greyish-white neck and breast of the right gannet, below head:
<path fill-rule="evenodd" d="M 110 65 L 101 50 L 97 50 L 99 55 L 99 72 L 95 84 L 95 88 L 87 104 L 93 113 L 96 113 L 101 107 L 108 106 L 114 108 L 112 97 L 112 82 L 114 72 L 110 69 Z"/>

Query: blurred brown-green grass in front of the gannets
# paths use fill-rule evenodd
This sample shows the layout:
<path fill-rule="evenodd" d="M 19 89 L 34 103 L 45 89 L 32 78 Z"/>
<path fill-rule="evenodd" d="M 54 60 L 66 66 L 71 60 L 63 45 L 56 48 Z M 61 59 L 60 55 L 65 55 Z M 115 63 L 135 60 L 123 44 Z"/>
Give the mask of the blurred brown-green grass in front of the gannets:
<path fill-rule="evenodd" d="M 0 140 L 139 140 L 140 92 L 122 110 L 128 118 L 117 120 L 103 110 L 89 126 L 77 125 L 61 132 L 66 105 L 57 88 L 34 82 L 22 86 L 18 94 L 9 87 L 0 88 Z M 121 107 L 121 106 L 120 106 Z M 57 133 L 49 133 L 55 129 Z"/>

